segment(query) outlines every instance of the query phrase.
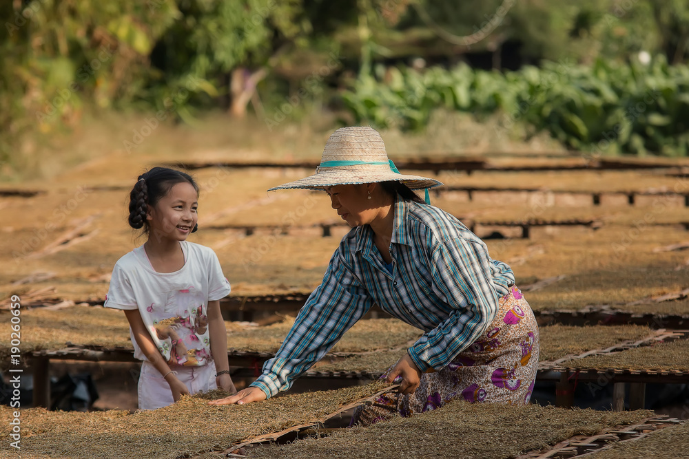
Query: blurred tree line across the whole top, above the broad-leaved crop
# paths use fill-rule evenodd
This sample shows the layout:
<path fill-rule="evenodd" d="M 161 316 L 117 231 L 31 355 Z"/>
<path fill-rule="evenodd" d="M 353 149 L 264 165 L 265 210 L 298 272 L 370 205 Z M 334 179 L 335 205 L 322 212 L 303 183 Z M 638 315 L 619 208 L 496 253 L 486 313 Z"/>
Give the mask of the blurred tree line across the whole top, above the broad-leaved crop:
<path fill-rule="evenodd" d="M 347 87 L 380 63 L 682 63 L 689 47 L 686 0 L 5 0 L 0 19 L 0 161 L 85 104 L 243 116 L 257 87 L 283 105 L 309 78 Z"/>

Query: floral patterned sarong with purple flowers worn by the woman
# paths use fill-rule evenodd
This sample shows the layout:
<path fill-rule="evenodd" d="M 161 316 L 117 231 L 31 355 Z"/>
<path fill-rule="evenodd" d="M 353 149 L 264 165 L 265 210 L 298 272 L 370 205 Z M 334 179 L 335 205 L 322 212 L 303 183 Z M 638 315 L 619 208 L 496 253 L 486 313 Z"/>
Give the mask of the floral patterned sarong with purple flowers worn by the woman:
<path fill-rule="evenodd" d="M 438 409 L 455 397 L 472 403 L 528 403 L 538 369 L 538 325 L 516 286 L 499 305 L 482 337 L 442 370 L 422 374 L 414 394 L 383 394 L 373 405 L 360 407 L 352 423 L 368 425 L 395 414 L 411 416 Z"/>

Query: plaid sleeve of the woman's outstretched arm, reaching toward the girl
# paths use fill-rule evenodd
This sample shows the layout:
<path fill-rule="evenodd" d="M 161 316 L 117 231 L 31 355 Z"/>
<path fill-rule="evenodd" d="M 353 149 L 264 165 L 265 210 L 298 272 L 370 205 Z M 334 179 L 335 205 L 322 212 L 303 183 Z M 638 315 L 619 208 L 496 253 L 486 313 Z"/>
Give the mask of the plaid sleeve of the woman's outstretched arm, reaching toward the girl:
<path fill-rule="evenodd" d="M 367 291 L 353 275 L 338 249 L 330 260 L 322 284 L 299 311 L 276 356 L 263 365 L 252 386 L 268 397 L 287 390 L 371 308 Z"/>

